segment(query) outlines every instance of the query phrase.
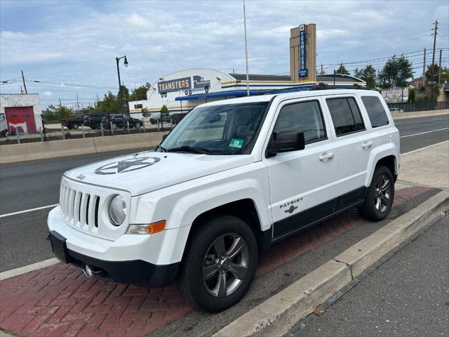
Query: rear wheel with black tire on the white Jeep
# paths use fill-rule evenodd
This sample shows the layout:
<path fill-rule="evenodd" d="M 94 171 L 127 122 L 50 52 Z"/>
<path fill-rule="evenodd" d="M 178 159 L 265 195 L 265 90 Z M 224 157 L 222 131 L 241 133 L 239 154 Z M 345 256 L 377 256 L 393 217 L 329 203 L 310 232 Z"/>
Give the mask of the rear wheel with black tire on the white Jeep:
<path fill-rule="evenodd" d="M 393 206 L 394 177 L 386 166 L 377 166 L 371 185 L 368 187 L 365 201 L 358 206 L 358 213 L 370 221 L 380 221 L 387 218 Z"/>

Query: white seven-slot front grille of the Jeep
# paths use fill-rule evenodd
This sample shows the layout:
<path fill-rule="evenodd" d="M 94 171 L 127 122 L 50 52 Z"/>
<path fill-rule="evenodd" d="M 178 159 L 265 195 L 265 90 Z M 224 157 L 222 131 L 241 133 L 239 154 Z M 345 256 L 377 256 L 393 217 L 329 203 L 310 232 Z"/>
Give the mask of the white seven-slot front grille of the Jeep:
<path fill-rule="evenodd" d="M 60 207 L 65 220 L 76 227 L 94 232 L 98 229 L 98 206 L 100 197 L 83 193 L 61 185 Z"/>

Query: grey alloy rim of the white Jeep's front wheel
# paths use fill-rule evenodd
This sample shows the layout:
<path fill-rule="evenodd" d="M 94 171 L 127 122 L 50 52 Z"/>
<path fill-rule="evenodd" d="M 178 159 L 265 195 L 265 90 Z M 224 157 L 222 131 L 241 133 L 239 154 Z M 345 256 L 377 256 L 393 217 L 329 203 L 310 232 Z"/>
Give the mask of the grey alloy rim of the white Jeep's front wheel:
<path fill-rule="evenodd" d="M 248 270 L 249 252 L 239 234 L 223 234 L 203 259 L 203 284 L 210 295 L 224 298 L 239 288 Z"/>

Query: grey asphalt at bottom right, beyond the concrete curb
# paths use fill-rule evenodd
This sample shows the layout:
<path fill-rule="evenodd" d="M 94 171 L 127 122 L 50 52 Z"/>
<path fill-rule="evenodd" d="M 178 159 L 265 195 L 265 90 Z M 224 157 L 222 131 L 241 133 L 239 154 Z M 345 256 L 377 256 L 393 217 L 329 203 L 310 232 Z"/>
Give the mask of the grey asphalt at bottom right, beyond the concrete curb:
<path fill-rule="evenodd" d="M 445 216 L 295 336 L 448 336 L 448 242 Z"/>

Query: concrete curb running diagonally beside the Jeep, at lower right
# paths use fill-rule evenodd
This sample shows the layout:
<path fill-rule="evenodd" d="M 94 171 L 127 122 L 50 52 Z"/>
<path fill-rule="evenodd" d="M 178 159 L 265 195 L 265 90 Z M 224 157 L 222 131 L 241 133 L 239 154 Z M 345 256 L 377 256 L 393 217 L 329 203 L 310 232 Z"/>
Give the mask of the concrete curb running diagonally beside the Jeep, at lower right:
<path fill-rule="evenodd" d="M 449 199 L 444 190 L 305 275 L 228 324 L 214 337 L 282 336 L 354 277 L 425 225 L 420 222 Z"/>

